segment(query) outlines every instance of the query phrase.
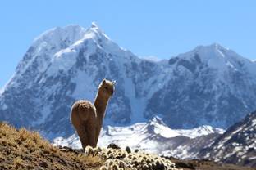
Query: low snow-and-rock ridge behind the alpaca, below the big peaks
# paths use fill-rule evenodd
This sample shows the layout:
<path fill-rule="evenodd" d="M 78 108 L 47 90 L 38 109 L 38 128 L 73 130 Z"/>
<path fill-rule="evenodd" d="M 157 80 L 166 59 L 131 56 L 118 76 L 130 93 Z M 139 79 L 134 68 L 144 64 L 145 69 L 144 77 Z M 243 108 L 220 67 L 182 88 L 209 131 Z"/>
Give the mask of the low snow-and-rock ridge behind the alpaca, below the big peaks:
<path fill-rule="evenodd" d="M 129 146 L 132 150 L 139 149 L 153 154 L 176 156 L 182 159 L 196 158 L 199 150 L 208 145 L 224 130 L 211 126 L 193 129 L 171 129 L 154 117 L 147 123 L 135 123 L 127 127 L 106 126 L 99 136 L 98 145 L 106 147 L 110 143 L 120 145 L 123 149 Z M 57 137 L 54 145 L 81 149 L 79 137 Z"/>

